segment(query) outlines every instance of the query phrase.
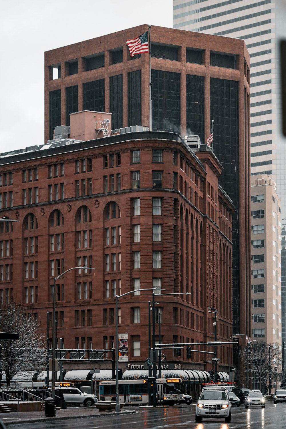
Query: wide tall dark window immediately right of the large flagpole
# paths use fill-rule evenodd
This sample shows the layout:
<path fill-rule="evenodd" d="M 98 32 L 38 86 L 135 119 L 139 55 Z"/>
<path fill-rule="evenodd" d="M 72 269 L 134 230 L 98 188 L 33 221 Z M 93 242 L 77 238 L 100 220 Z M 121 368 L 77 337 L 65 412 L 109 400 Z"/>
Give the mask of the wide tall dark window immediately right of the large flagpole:
<path fill-rule="evenodd" d="M 152 129 L 181 131 L 180 73 L 152 70 Z"/>

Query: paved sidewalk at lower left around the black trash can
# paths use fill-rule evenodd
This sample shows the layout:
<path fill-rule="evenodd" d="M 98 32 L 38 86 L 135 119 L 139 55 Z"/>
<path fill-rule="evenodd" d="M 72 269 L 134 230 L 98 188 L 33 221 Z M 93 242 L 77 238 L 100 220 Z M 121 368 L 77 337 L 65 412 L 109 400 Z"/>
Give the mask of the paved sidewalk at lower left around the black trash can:
<path fill-rule="evenodd" d="M 123 409 L 122 409 L 123 410 Z M 111 412 L 99 412 L 96 407 L 67 407 L 67 410 L 57 410 L 56 417 L 45 417 L 45 411 L 27 411 L 20 413 L 1 413 L 0 419 L 3 421 L 5 426 L 9 424 L 23 424 L 28 422 L 40 422 L 40 421 L 56 421 L 56 420 L 68 420 L 68 419 L 83 419 L 91 417 L 107 417 L 114 414 L 134 414 L 138 411 L 134 408 L 125 407 L 123 411 L 115 413 Z"/>

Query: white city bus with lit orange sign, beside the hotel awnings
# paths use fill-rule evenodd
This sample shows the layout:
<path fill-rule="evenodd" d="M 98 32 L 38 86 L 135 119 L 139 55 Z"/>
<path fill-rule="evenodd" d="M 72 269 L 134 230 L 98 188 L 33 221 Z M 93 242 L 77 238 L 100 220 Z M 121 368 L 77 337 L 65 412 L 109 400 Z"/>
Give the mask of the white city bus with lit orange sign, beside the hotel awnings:
<path fill-rule="evenodd" d="M 175 405 L 184 401 L 181 378 L 157 378 L 156 387 L 157 403 Z M 120 380 L 118 388 L 119 402 L 126 405 L 148 404 L 148 379 Z M 99 381 L 99 400 L 116 400 L 116 381 Z"/>

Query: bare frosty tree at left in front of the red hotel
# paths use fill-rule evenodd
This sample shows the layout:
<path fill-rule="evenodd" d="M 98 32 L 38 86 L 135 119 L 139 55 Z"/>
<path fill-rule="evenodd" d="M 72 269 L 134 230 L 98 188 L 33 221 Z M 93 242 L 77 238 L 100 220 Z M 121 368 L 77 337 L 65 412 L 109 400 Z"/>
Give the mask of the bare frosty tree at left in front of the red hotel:
<path fill-rule="evenodd" d="M 19 372 L 37 371 L 45 366 L 46 350 L 33 314 L 26 315 L 21 304 L 0 305 L 0 332 L 17 332 L 18 340 L 1 340 L 2 368 L 7 387 Z"/>

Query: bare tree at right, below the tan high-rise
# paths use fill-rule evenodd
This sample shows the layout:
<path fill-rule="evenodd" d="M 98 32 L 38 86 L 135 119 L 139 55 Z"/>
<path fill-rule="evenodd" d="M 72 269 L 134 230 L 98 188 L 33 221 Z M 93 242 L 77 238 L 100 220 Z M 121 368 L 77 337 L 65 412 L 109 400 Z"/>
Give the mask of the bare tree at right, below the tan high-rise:
<path fill-rule="evenodd" d="M 240 358 L 245 363 L 247 376 L 258 383 L 259 389 L 266 389 L 281 372 L 281 350 L 278 343 L 265 344 L 262 341 L 252 341 L 240 352 Z M 276 372 L 274 374 L 274 368 Z"/>

